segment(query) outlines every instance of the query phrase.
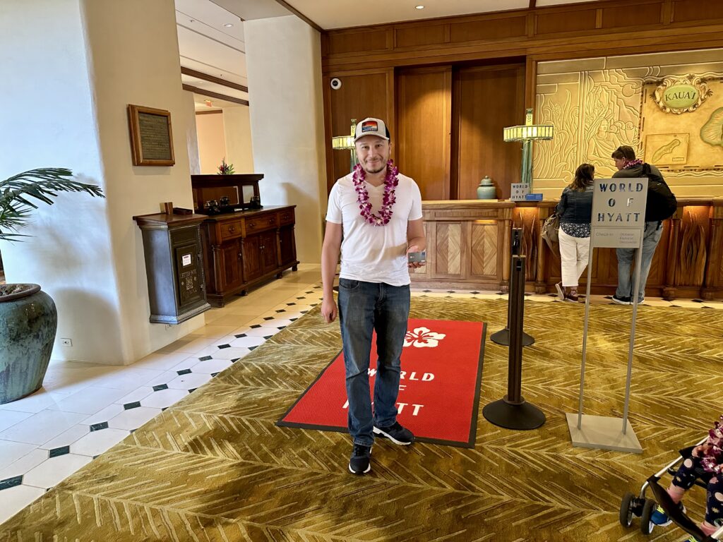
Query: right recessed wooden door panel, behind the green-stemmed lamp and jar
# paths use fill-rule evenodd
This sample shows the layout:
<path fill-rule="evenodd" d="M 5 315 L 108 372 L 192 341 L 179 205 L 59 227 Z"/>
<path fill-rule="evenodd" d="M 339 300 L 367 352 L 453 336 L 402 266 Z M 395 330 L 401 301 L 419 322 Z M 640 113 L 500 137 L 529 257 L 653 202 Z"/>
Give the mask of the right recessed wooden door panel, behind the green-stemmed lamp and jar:
<path fill-rule="evenodd" d="M 524 124 L 525 66 L 474 66 L 454 78 L 451 199 L 476 199 L 488 175 L 497 197 L 520 182 L 521 143 L 505 143 L 505 126 Z"/>

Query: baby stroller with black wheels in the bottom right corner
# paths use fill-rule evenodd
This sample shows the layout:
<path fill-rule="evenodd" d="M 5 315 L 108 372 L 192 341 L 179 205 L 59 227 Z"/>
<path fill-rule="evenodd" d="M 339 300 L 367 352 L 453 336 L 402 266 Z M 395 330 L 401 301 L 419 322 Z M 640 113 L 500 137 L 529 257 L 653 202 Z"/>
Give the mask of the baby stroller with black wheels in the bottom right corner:
<path fill-rule="evenodd" d="M 658 483 L 665 473 L 675 476 L 676 467 L 685 459 L 685 457 L 688 457 L 687 452 L 690 452 L 690 450 L 700 444 L 704 444 L 707 439 L 708 436 L 706 435 L 700 442 L 694 444 L 692 447 L 680 450 L 680 457 L 677 457 L 677 459 L 672 463 L 665 465 L 661 470 L 648 478 L 646 483 L 643 483 L 643 487 L 640 490 L 640 496 L 635 496 L 630 491 L 623 496 L 623 501 L 620 502 L 620 524 L 623 525 L 623 527 L 630 527 L 633 523 L 633 516 L 637 516 L 640 517 L 641 532 L 644 535 L 649 535 L 654 527 L 654 524 L 651 522 L 651 515 L 655 511 L 656 507 L 660 505 L 663 511 L 678 527 L 685 530 L 686 533 L 693 535 L 697 541 L 723 541 L 723 527 L 716 530 L 712 536 L 703 533 L 696 522 L 685 515 L 685 512 L 683 512 L 683 510 L 680 509 L 675 502 L 673 502 L 664 487 Z M 706 475 L 709 479 L 712 476 L 709 473 L 701 473 L 701 477 L 703 479 Z M 701 479 L 698 479 L 695 484 L 696 486 L 701 486 L 707 489 L 707 480 L 706 482 L 703 482 Z M 651 490 L 655 499 L 646 499 L 646 489 Z"/>

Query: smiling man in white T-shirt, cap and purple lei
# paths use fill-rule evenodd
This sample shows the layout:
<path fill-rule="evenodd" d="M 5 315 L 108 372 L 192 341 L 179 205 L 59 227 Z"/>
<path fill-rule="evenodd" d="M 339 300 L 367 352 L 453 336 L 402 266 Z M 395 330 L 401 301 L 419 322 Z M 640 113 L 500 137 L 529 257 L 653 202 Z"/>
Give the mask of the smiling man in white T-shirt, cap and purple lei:
<path fill-rule="evenodd" d="M 424 251 L 419 186 L 389 160 L 389 130 L 364 119 L 354 134 L 359 164 L 329 194 L 322 248 L 322 314 L 337 314 L 333 283 L 341 249 L 339 324 L 346 368 L 348 428 L 354 441 L 349 470 L 371 470 L 375 435 L 411 444 L 414 435 L 396 419 L 400 356 L 409 317 L 408 254 Z M 369 392 L 372 332 L 377 332 L 374 410 Z"/>

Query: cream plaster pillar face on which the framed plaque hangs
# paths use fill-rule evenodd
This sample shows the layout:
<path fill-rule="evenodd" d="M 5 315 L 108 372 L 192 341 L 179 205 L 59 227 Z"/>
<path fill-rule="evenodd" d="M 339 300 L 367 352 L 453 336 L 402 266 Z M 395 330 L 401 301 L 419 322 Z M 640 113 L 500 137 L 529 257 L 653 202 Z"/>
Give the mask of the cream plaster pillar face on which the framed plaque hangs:
<path fill-rule="evenodd" d="M 201 327 L 203 316 L 177 326 L 150 324 L 145 259 L 134 215 L 159 212 L 161 202 L 192 207 L 187 147 L 187 99 L 181 88 L 173 0 L 84 0 L 84 19 L 98 119 L 108 224 L 117 275 L 121 334 L 132 363 Z M 176 164 L 134 166 L 129 103 L 171 112 Z"/>

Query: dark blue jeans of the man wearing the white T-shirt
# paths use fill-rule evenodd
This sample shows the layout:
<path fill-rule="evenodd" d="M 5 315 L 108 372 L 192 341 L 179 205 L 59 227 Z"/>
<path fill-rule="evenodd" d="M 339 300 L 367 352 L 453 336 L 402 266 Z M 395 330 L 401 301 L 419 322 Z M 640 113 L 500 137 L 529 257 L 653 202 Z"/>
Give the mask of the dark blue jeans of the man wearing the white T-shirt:
<path fill-rule="evenodd" d="M 339 279 L 339 324 L 344 347 L 348 427 L 354 444 L 371 446 L 374 426 L 397 420 L 400 356 L 409 317 L 409 285 Z M 369 394 L 372 332 L 377 332 L 374 413 Z"/>

